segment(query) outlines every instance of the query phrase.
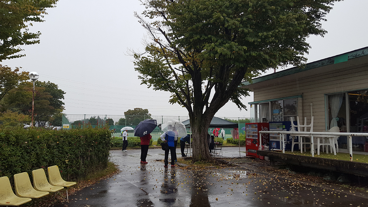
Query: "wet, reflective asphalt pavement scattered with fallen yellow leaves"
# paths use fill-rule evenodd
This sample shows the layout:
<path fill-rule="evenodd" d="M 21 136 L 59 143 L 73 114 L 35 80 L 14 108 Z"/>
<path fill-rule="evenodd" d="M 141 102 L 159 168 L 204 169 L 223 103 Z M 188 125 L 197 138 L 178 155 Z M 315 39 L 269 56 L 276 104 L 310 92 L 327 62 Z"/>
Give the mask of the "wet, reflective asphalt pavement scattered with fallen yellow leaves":
<path fill-rule="evenodd" d="M 148 164 L 141 165 L 140 152 L 111 151 L 120 173 L 70 195 L 70 203 L 54 206 L 368 206 L 365 194 L 273 175 L 265 170 L 266 161 L 250 159 L 236 167 L 199 171 L 170 165 L 164 168 L 163 161 L 156 161 L 164 158 L 161 149 L 149 149 Z M 180 149 L 177 153 L 180 157 Z M 239 157 L 239 148 L 223 148 L 223 156 Z"/>

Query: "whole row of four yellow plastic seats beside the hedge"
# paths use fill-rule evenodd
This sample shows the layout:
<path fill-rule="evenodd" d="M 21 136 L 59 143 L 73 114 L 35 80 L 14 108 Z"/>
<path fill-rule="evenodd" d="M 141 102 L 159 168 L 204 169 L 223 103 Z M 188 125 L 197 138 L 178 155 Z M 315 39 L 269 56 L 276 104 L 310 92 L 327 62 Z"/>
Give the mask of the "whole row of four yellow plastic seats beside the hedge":
<path fill-rule="evenodd" d="M 75 185 L 75 182 L 67 182 L 61 178 L 59 167 L 57 165 L 47 168 L 49 182 L 43 169 L 32 171 L 33 187 L 28 173 L 22 172 L 14 175 L 15 194 L 11 189 L 10 181 L 7 176 L 0 178 L 0 205 L 2 206 L 20 206 L 31 201 L 31 198 L 37 199 L 46 196 L 49 192 L 57 192 L 64 187 Z M 67 200 L 68 189 L 67 189 Z"/>

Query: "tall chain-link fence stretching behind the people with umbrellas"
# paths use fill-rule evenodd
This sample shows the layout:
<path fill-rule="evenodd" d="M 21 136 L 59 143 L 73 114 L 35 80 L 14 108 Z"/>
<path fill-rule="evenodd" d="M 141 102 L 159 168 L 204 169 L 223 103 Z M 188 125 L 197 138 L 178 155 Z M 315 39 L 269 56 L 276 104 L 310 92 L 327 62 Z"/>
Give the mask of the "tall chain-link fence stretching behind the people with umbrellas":
<path fill-rule="evenodd" d="M 226 119 L 228 121 L 238 123 L 239 129 L 245 126 L 245 123 L 252 123 L 254 122 L 254 118 L 245 118 L 245 117 L 219 117 L 222 119 Z M 69 124 L 70 128 L 79 128 L 86 126 L 87 124 L 91 124 L 92 126 L 106 126 L 109 125 L 110 130 L 113 132 L 113 136 L 121 136 L 120 129 L 125 126 L 130 126 L 135 128 L 139 122 L 145 119 L 156 119 L 158 124 L 163 124 L 168 122 L 171 119 L 178 120 L 178 121 L 185 121 L 189 119 L 189 116 L 148 116 L 148 115 L 91 115 L 91 114 L 67 114 L 63 116 L 63 121 L 61 126 L 64 124 Z M 188 133 L 189 133 L 188 129 Z M 212 135 L 213 129 L 208 129 L 208 132 Z M 225 130 L 225 139 L 231 137 L 230 130 L 231 129 L 224 129 Z M 242 131 L 240 130 L 240 133 Z M 151 135 L 154 140 L 156 140 L 162 131 L 159 127 L 156 127 L 155 130 L 152 131 Z"/>

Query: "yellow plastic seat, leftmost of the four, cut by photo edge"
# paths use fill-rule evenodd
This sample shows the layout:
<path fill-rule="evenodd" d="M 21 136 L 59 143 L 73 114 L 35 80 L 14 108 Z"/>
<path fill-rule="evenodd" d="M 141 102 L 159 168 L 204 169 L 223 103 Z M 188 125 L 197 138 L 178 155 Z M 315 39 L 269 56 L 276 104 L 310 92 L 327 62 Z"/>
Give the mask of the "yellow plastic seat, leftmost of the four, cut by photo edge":
<path fill-rule="evenodd" d="M 30 198 L 16 196 L 11 189 L 10 181 L 7 176 L 0 178 L 0 206 L 20 206 L 31 200 Z"/>

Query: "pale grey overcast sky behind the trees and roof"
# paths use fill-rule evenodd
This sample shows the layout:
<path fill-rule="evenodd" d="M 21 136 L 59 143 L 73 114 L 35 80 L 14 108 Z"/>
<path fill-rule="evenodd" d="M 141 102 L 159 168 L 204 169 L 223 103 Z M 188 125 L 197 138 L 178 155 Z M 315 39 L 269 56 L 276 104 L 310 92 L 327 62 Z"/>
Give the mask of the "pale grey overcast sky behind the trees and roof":
<path fill-rule="evenodd" d="M 368 46 L 367 8 L 367 0 L 335 3 L 323 22 L 328 34 L 308 39 L 308 62 Z M 126 55 L 129 48 L 144 49 L 146 32 L 134 17 L 143 10 L 136 0 L 59 0 L 46 21 L 31 28 L 42 33 L 40 44 L 22 46 L 26 57 L 0 64 L 36 71 L 40 81 L 59 85 L 67 114 L 123 115 L 144 108 L 155 116 L 187 116 L 185 108 L 168 103 L 169 93 L 140 85 Z M 253 101 L 252 95 L 243 101 Z M 250 110 L 229 102 L 216 116 L 250 117 Z"/>

